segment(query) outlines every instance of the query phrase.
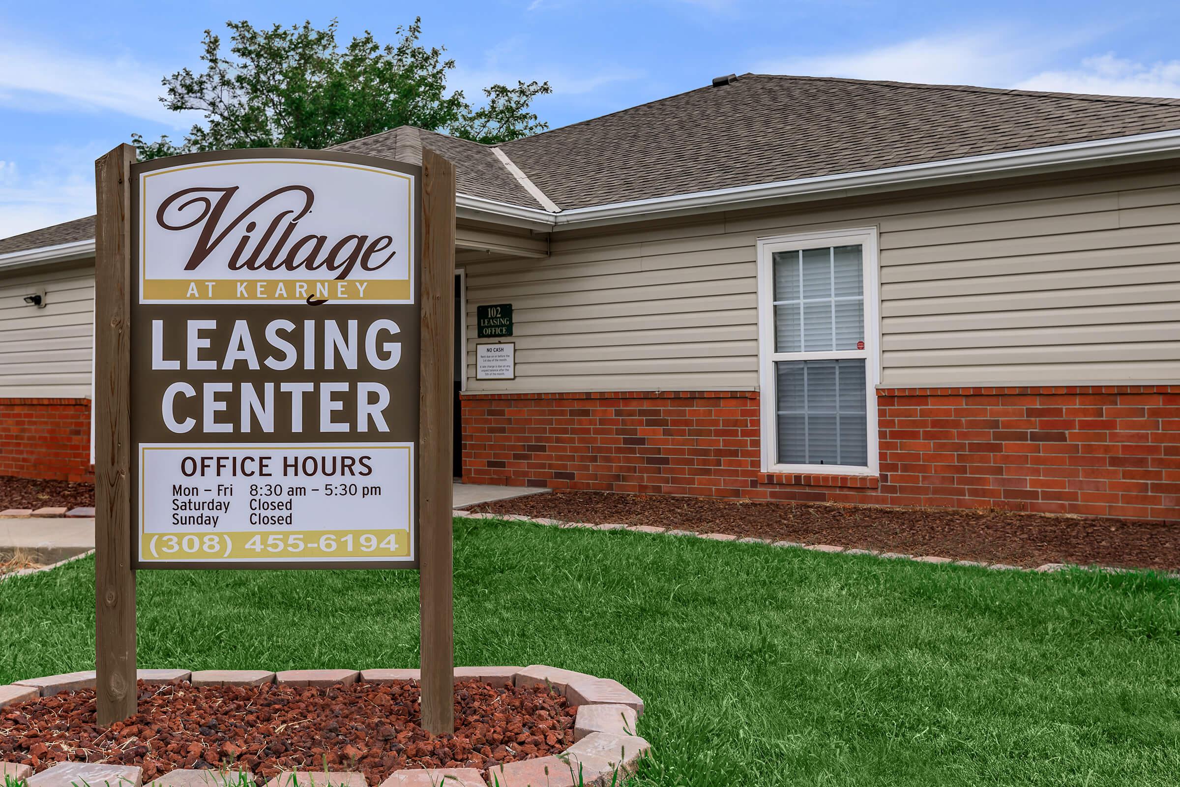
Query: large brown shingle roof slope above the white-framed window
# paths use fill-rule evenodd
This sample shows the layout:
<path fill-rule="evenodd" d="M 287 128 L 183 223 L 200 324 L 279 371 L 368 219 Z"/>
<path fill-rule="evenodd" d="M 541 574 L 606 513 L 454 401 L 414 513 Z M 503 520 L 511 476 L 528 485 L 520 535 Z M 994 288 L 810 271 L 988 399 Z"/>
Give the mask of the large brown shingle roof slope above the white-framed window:
<path fill-rule="evenodd" d="M 562 209 L 1180 129 L 1180 100 L 746 74 L 500 145 Z"/>

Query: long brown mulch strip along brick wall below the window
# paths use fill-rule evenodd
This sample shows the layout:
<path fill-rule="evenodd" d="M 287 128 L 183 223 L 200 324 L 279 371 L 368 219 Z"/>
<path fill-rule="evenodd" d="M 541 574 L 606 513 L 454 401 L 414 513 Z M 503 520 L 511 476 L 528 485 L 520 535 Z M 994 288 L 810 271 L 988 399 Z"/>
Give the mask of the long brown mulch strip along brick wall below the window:
<path fill-rule="evenodd" d="M 595 524 L 657 525 L 1029 568 L 1074 563 L 1180 569 L 1180 522 L 611 492 L 551 492 L 485 503 L 468 510 Z"/>

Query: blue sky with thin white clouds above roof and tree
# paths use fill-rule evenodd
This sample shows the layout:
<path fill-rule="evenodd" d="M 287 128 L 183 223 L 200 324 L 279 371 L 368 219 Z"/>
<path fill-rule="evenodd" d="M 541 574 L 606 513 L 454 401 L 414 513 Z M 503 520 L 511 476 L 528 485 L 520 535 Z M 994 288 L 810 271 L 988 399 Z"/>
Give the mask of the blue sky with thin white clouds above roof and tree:
<path fill-rule="evenodd" d="M 382 41 L 421 15 L 468 98 L 548 79 L 536 109 L 551 126 L 747 71 L 1180 97 L 1171 0 L 0 4 L 0 237 L 93 212 L 94 158 L 199 119 L 156 99 L 163 76 L 199 65 L 205 28 L 333 15 L 342 37 Z"/>

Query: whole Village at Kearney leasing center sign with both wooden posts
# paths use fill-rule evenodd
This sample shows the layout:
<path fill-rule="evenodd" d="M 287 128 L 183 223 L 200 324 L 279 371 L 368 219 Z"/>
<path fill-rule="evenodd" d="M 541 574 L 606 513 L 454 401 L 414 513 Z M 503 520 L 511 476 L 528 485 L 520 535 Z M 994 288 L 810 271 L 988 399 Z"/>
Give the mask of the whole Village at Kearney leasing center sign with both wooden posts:
<path fill-rule="evenodd" d="M 453 168 L 125 149 L 98 164 L 96 472 L 132 640 L 104 652 L 100 602 L 99 721 L 135 708 L 133 569 L 420 566 L 450 732 Z"/>

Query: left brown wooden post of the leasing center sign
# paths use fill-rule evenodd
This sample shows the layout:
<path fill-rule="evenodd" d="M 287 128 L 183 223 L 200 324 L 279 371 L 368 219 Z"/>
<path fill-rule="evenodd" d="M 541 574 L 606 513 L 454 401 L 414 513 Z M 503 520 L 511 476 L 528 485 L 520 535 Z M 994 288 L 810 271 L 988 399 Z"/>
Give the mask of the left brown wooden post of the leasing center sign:
<path fill-rule="evenodd" d="M 136 572 L 131 568 L 131 164 L 119 145 L 94 162 L 94 664 L 98 723 L 136 713 Z"/>

